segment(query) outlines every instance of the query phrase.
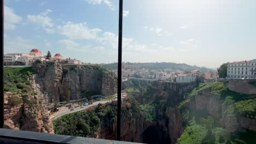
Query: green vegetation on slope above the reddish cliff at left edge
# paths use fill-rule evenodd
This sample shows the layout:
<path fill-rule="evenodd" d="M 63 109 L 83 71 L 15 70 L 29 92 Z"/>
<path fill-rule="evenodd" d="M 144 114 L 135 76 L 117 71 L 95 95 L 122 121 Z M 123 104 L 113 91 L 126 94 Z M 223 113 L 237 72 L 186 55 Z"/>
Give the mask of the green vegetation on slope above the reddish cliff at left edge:
<path fill-rule="evenodd" d="M 32 91 L 30 78 L 35 74 L 32 67 L 4 67 L 4 92 L 25 94 Z"/>

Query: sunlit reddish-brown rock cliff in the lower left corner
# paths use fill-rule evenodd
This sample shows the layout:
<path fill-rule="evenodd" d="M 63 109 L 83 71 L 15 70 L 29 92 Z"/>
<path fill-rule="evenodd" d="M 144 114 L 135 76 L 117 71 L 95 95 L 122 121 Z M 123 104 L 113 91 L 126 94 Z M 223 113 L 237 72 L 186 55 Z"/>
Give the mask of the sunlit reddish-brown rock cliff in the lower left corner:
<path fill-rule="evenodd" d="M 38 95 L 5 93 L 4 128 L 54 133 L 48 110 Z"/>

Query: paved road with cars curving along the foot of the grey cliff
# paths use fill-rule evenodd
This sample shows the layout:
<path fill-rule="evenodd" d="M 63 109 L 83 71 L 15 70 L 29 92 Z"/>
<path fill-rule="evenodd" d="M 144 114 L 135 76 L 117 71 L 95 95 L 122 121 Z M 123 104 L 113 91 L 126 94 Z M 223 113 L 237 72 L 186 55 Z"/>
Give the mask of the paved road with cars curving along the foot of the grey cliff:
<path fill-rule="evenodd" d="M 83 108 L 80 108 L 80 107 L 77 107 L 77 108 L 74 108 L 73 111 L 70 111 L 68 109 L 68 107 L 65 107 L 65 106 L 62 106 L 62 107 L 59 107 L 59 111 L 56 112 L 53 116 L 54 118 L 52 118 L 53 116 L 51 116 L 51 121 L 54 121 L 55 119 L 59 118 L 59 117 L 62 117 L 64 115 L 67 115 L 69 113 L 74 113 L 74 112 L 78 112 L 78 111 L 82 111 L 82 110 L 85 110 L 87 109 L 88 107 L 92 107 L 92 106 L 96 106 L 98 104 L 107 104 L 107 103 L 111 103 L 112 100 L 108 100 L 108 101 L 96 101 L 95 103 L 91 104 L 91 105 L 87 105 L 87 106 L 84 106 Z M 72 107 L 74 107 L 75 105 L 78 105 L 78 104 L 74 104 L 72 105 Z"/>

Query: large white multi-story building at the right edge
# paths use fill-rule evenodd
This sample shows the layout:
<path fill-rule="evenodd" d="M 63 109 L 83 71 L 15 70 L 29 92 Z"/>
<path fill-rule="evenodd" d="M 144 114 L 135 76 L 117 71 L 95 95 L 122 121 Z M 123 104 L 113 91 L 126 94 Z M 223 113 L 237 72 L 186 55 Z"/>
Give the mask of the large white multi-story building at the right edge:
<path fill-rule="evenodd" d="M 256 78 L 256 59 L 228 63 L 227 78 Z"/>

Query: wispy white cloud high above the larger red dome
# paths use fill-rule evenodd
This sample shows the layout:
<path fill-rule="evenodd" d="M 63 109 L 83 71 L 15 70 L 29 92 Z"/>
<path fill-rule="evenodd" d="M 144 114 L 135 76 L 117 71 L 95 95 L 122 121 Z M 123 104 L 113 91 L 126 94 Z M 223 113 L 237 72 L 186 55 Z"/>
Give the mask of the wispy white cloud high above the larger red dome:
<path fill-rule="evenodd" d="M 43 27 L 47 33 L 52 34 L 55 32 L 53 29 L 54 23 L 52 22 L 51 18 L 47 16 L 51 12 L 52 10 L 46 9 L 39 15 L 27 15 L 27 21 Z"/>

